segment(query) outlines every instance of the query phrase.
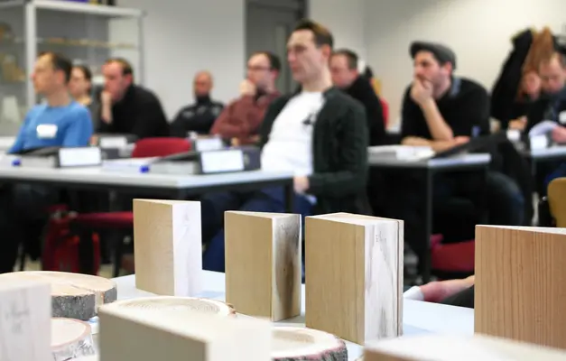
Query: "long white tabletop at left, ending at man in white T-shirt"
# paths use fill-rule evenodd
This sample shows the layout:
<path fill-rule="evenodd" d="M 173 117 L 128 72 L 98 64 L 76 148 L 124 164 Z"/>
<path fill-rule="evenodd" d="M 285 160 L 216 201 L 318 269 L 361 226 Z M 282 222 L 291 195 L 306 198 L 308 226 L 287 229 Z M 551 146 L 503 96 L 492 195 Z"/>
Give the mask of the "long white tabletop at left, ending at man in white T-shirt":
<path fill-rule="evenodd" d="M 189 189 L 233 183 L 254 183 L 268 180 L 292 179 L 289 172 L 241 171 L 207 175 L 173 175 L 137 173 L 131 171 L 103 171 L 101 167 L 81 168 L 25 168 L 0 167 L 0 178 L 14 180 L 45 180 L 71 183 L 102 184 L 109 186 L 154 187 Z"/>

